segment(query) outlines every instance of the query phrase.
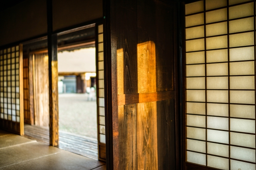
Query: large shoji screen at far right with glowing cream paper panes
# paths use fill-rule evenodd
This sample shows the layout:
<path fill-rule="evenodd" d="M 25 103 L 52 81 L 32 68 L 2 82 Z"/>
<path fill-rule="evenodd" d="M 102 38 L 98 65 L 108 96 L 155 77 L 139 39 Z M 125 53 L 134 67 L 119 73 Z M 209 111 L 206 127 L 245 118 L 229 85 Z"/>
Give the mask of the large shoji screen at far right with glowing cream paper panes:
<path fill-rule="evenodd" d="M 185 5 L 186 158 L 255 170 L 255 1 Z"/>

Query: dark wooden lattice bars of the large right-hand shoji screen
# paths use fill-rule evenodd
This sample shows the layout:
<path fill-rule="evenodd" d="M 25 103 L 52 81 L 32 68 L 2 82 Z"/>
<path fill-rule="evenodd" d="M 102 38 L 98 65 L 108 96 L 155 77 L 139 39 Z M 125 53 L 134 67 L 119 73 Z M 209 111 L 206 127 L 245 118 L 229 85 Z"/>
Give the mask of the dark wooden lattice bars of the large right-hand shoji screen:
<path fill-rule="evenodd" d="M 196 1 L 191 1 L 191 2 L 198 2 L 198 0 L 196 0 Z M 189 2 L 189 3 L 191 3 L 191 2 Z M 254 14 L 253 15 L 250 15 L 250 16 L 245 16 L 245 17 L 240 17 L 240 18 L 234 18 L 234 19 L 229 19 L 229 8 L 230 7 L 233 7 L 233 6 L 238 6 L 238 5 L 242 5 L 242 4 L 249 4 L 249 3 L 253 3 L 253 8 L 254 8 Z M 186 3 L 183 3 L 183 9 L 185 9 L 184 8 L 184 6 L 185 6 L 185 4 Z M 254 92 L 254 101 L 256 101 L 256 83 L 255 83 L 255 75 L 256 75 L 256 70 L 255 70 L 255 61 L 256 61 L 256 49 L 255 49 L 255 46 L 256 46 L 256 32 L 255 32 L 255 30 L 256 30 L 256 25 L 255 25 L 255 22 L 256 22 L 256 2 L 255 2 L 255 0 L 251 0 L 251 1 L 248 1 L 248 2 L 242 2 L 242 3 L 239 3 L 239 4 L 232 4 L 232 5 L 228 5 L 229 4 L 229 1 L 227 0 L 227 5 L 226 6 L 224 6 L 224 7 L 221 7 L 221 8 L 214 8 L 214 9 L 211 9 L 211 10 L 206 10 L 206 0 L 204 0 L 204 11 L 202 11 L 202 12 L 196 12 L 196 13 L 192 13 L 192 14 L 185 14 L 185 10 L 184 10 L 184 14 L 183 14 L 183 16 L 184 16 L 184 18 L 185 18 L 185 16 L 191 16 L 191 15 L 195 15 L 195 14 L 204 14 L 204 24 L 200 24 L 200 25 L 193 25 L 193 26 L 189 26 L 189 27 L 186 27 L 185 26 L 185 24 L 184 24 L 184 31 L 182 31 L 183 33 L 184 33 L 184 35 L 185 35 L 185 28 L 192 28 L 192 27 L 198 27 L 198 26 L 204 26 L 204 37 L 199 37 L 199 38 L 193 38 L 193 39 L 186 39 L 185 38 L 185 36 L 183 37 L 183 43 L 184 43 L 184 45 L 183 45 L 183 51 L 182 51 L 182 53 L 183 53 L 183 56 L 185 56 L 185 54 L 186 53 L 194 53 L 194 52 L 200 52 L 200 51 L 202 51 L 202 52 L 204 52 L 204 63 L 196 63 L 196 64 L 186 64 L 186 57 L 183 57 L 183 61 L 182 61 L 182 67 L 183 67 L 183 69 L 182 70 L 184 70 L 184 74 L 183 74 L 183 76 L 182 76 L 182 80 L 183 80 L 183 86 L 184 86 L 184 92 L 183 92 L 183 94 L 184 94 L 184 98 L 183 98 L 183 100 L 182 100 L 182 103 L 184 104 L 183 106 L 186 106 L 186 102 L 191 102 L 191 103 L 205 103 L 205 111 L 206 111 L 206 113 L 205 113 L 205 127 L 196 127 L 196 128 L 200 128 L 200 129 L 206 129 L 205 130 L 205 132 L 206 132 L 206 139 L 205 140 L 200 140 L 200 139 L 193 139 L 193 140 L 197 140 L 197 141 L 204 141 L 206 144 L 206 152 L 198 152 L 198 153 L 202 153 L 202 154 L 205 154 L 206 155 L 206 166 L 203 166 L 203 165 L 197 165 L 197 164 L 193 164 L 193 163 L 190 163 L 190 162 L 186 162 L 186 152 L 187 151 L 192 151 L 192 152 L 197 152 L 197 151 L 194 151 L 194 150 L 187 150 L 187 148 L 186 148 L 186 139 L 192 139 L 192 138 L 188 138 L 187 137 L 187 135 L 186 135 L 186 127 L 195 127 L 195 126 L 188 126 L 188 125 L 186 125 L 186 115 L 202 115 L 202 114 L 194 114 L 194 113 L 187 113 L 187 111 L 186 111 L 186 109 L 184 109 L 184 111 L 182 112 L 183 113 L 183 115 L 184 115 L 184 118 L 183 118 L 183 133 L 182 134 L 184 134 L 184 135 L 182 135 L 183 137 L 182 137 L 182 139 L 184 140 L 183 141 L 183 146 L 185 147 L 183 150 L 183 153 L 184 153 L 184 157 L 183 157 L 183 162 L 184 162 L 184 165 L 185 165 L 185 167 L 186 167 L 186 169 L 188 169 L 188 170 L 194 170 L 194 169 L 205 169 L 205 170 L 211 170 L 211 169 L 216 169 L 216 168 L 211 168 L 211 167 L 207 167 L 207 160 L 208 160 L 208 158 L 207 158 L 207 156 L 209 155 L 209 156 L 218 156 L 218 157 L 221 157 L 221 158 L 228 158 L 228 160 L 229 160 L 229 169 L 231 169 L 231 160 L 238 160 L 238 161 L 241 161 L 241 162 L 247 162 L 247 163 L 250 163 L 250 164 L 256 164 L 255 162 L 250 162 L 250 161 L 247 161 L 247 160 L 241 160 L 241 159 L 236 159 L 236 158 L 232 158 L 231 156 L 230 156 L 230 147 L 240 147 L 240 148 L 245 148 L 245 149 L 253 149 L 253 150 L 255 150 L 255 147 L 254 148 L 252 148 L 252 147 L 245 147 L 245 146 L 240 146 L 240 145 L 232 145 L 232 144 L 230 144 L 230 134 L 231 133 L 242 133 L 242 134 L 248 134 L 248 135 L 254 135 L 255 136 L 255 134 L 256 133 L 248 133 L 248 132 L 242 132 L 242 131 L 231 131 L 230 130 L 230 119 L 231 118 L 238 118 L 238 119 L 245 119 L 245 120 L 256 120 L 255 119 L 255 116 L 254 116 L 254 119 L 252 119 L 252 118 L 243 118 L 243 117 L 232 117 L 231 115 L 230 115 L 230 104 L 236 104 L 236 105 L 247 105 L 247 106 L 255 106 L 254 108 L 256 109 L 256 105 L 255 105 L 255 102 L 254 102 L 254 104 L 241 104 L 241 103 L 232 103 L 232 102 L 230 102 L 230 91 L 253 91 Z M 226 20 L 222 20 L 222 21 L 217 21 L 217 22 L 210 22 L 210 23 L 206 23 L 206 12 L 210 12 L 210 11 L 215 11 L 215 10 L 220 10 L 220 9 L 227 9 L 227 19 Z M 245 19 L 245 18 L 252 18 L 253 17 L 253 20 L 254 20 L 254 29 L 253 30 L 249 30 L 249 31 L 241 31 L 241 32 L 235 32 L 235 33 L 230 33 L 229 32 L 229 21 L 233 21 L 233 20 L 239 20 L 239 19 Z M 183 19 L 184 20 L 184 19 Z M 184 20 L 184 22 L 185 22 L 185 20 Z M 220 35 L 213 35 L 213 36 L 206 36 L 206 25 L 210 25 L 210 24 L 214 24 L 214 23 L 222 23 L 222 22 L 227 22 L 227 33 L 226 34 L 220 34 Z M 236 47 L 230 47 L 230 38 L 229 38 L 229 35 L 234 35 L 234 34 L 240 34 L 240 33 L 254 33 L 254 44 L 253 45 L 245 45 L 245 46 L 236 46 Z M 206 49 L 206 38 L 210 38 L 210 37 L 219 37 L 219 36 L 227 36 L 227 47 L 226 48 L 218 48 L 218 49 Z M 204 39 L 204 50 L 200 50 L 200 51 L 188 51 L 188 52 L 186 52 L 186 41 L 188 41 L 188 40 L 196 40 L 196 39 Z M 230 50 L 229 49 L 234 49 L 234 48 L 242 48 L 242 47 L 254 47 L 254 59 L 252 59 L 252 60 L 239 60 L 239 61 L 230 61 Z M 228 51 L 228 61 L 224 61 L 224 62 L 208 62 L 207 63 L 207 61 L 206 61 L 206 52 L 207 51 L 212 51 L 212 50 L 220 50 L 220 49 L 227 49 L 227 51 Z M 230 63 L 236 63 L 236 62 L 247 62 L 247 61 L 253 61 L 254 62 L 254 74 L 248 74 L 248 75 L 245 75 L 245 74 L 243 74 L 243 75 L 230 75 Z M 216 76 L 208 76 L 207 74 L 206 74 L 206 72 L 207 72 L 207 70 L 206 70 L 206 65 L 207 64 L 217 64 L 217 63 L 228 63 L 228 75 L 222 75 L 222 76 L 219 76 L 218 75 L 218 77 L 228 77 L 228 89 L 212 89 L 212 88 L 210 88 L 210 89 L 208 89 L 207 88 L 207 77 L 216 77 Z M 186 65 L 198 65 L 198 64 L 204 64 L 204 76 L 186 76 Z M 233 77 L 233 76 L 254 76 L 254 89 L 232 89 L 232 88 L 230 88 L 230 77 Z M 189 89 L 187 89 L 186 88 L 186 78 L 187 77 L 189 77 L 189 78 L 193 78 L 193 77 L 204 77 L 204 81 L 205 81 L 205 88 L 204 89 L 191 89 L 191 88 L 189 88 Z M 195 102 L 195 101 L 187 101 L 186 100 L 186 90 L 205 90 L 205 102 Z M 228 91 L 228 102 L 207 102 L 207 90 L 227 90 Z M 207 114 L 207 104 L 212 104 L 212 103 L 214 103 L 214 104 L 228 104 L 228 116 L 219 116 L 219 115 L 208 115 Z M 212 129 L 212 128 L 208 128 L 207 127 L 207 117 L 209 117 L 209 116 L 211 116 L 211 117 L 225 117 L 225 118 L 228 118 L 228 130 L 223 130 L 223 129 Z M 211 143 L 216 143 L 216 144 L 222 144 L 222 145 L 228 145 L 228 148 L 229 148 L 229 155 L 228 155 L 228 157 L 226 157 L 226 156 L 220 156 L 220 155 L 214 155 L 214 154 L 209 154 L 208 152 L 207 152 L 207 142 L 208 142 L 208 140 L 207 140 L 207 129 L 212 129 L 212 130 L 218 130 L 218 131 L 226 131 L 226 132 L 228 132 L 228 134 L 229 134 L 229 136 L 228 136 L 228 141 L 229 141 L 229 143 L 228 144 L 225 144 L 225 143 L 218 143 L 218 142 L 212 142 L 212 141 L 210 141 Z"/>

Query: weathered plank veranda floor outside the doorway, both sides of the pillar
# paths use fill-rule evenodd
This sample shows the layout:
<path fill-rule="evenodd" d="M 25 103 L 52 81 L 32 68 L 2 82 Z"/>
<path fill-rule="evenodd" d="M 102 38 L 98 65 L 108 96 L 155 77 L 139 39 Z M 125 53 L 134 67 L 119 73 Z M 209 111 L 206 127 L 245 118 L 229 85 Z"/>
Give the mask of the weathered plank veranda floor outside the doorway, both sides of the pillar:
<path fill-rule="evenodd" d="M 24 125 L 24 136 L 36 141 L 49 143 L 49 129 L 38 126 Z M 98 141 L 89 137 L 59 132 L 58 148 L 98 159 Z"/>

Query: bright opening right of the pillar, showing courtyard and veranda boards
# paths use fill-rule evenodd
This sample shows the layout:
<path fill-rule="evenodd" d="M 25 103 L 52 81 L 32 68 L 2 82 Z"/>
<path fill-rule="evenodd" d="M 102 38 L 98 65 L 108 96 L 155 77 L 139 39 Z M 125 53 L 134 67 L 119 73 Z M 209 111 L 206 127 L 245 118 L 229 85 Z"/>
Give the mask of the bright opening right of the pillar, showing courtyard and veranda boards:
<path fill-rule="evenodd" d="M 93 45 L 91 42 L 85 48 L 58 51 L 59 147 L 98 158 Z"/>

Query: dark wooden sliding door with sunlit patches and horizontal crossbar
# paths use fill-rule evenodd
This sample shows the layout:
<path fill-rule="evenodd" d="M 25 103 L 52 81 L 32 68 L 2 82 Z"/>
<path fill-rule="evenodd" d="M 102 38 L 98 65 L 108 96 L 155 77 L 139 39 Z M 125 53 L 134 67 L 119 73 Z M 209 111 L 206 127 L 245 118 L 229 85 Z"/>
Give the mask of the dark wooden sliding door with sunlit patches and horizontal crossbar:
<path fill-rule="evenodd" d="M 164 0 L 105 5 L 108 169 L 180 169 L 177 6 Z"/>

